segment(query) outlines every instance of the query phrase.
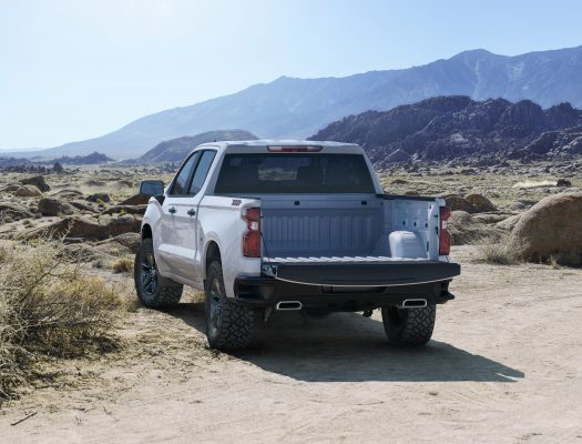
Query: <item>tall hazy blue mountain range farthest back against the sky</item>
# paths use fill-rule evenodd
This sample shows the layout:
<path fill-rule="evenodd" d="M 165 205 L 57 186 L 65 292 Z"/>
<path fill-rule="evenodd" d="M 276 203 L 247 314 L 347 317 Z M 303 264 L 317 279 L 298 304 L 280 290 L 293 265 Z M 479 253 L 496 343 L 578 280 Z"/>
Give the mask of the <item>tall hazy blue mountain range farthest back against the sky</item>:
<path fill-rule="evenodd" d="M 146 115 L 112 133 L 49 149 L 42 155 L 99 151 L 127 159 L 164 140 L 215 128 L 245 128 L 262 138 L 305 138 L 345 115 L 387 111 L 440 95 L 504 98 L 513 102 L 529 99 L 544 108 L 568 101 L 582 108 L 580 79 L 582 47 L 514 57 L 479 49 L 401 70 L 345 78 L 282 77 L 235 94 Z"/>

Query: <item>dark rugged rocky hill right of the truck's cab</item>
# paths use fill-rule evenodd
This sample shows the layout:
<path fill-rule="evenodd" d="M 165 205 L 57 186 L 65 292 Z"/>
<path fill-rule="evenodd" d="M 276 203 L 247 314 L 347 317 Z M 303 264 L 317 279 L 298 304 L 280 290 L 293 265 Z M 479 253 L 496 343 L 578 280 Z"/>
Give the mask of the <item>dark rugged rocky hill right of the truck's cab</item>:
<path fill-rule="evenodd" d="M 312 140 L 365 147 L 372 161 L 532 159 L 582 154 L 582 111 L 529 100 L 441 97 L 334 122 Z"/>

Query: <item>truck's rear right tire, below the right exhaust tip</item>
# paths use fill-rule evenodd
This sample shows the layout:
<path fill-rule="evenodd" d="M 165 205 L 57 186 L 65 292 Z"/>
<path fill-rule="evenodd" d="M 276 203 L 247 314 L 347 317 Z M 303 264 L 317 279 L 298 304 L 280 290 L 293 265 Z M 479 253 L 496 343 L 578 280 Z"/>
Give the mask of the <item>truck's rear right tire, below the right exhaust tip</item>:
<path fill-rule="evenodd" d="M 422 309 L 398 309 L 382 306 L 384 330 L 388 342 L 396 346 L 425 345 L 432 336 L 437 306 Z"/>

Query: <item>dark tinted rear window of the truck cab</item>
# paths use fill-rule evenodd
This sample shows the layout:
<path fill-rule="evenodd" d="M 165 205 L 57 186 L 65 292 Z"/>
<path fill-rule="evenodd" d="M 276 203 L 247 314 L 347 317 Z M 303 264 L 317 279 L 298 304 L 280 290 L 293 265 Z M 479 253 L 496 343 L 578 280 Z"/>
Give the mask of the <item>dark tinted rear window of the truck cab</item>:
<path fill-rule="evenodd" d="M 226 154 L 216 194 L 374 193 L 361 154 Z"/>

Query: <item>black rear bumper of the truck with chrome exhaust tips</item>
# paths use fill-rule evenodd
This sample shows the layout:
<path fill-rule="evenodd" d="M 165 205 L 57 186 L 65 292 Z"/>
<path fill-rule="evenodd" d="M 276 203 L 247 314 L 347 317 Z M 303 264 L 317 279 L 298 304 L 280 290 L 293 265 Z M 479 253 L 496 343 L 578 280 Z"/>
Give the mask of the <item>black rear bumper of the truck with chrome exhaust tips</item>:
<path fill-rule="evenodd" d="M 238 303 L 266 307 L 280 301 L 298 301 L 305 309 L 329 311 L 363 311 L 399 305 L 407 299 L 426 299 L 429 304 L 443 304 L 455 296 L 449 293 L 449 280 L 406 285 L 347 287 L 306 285 L 268 276 L 238 276 L 234 283 Z"/>

